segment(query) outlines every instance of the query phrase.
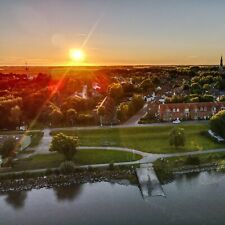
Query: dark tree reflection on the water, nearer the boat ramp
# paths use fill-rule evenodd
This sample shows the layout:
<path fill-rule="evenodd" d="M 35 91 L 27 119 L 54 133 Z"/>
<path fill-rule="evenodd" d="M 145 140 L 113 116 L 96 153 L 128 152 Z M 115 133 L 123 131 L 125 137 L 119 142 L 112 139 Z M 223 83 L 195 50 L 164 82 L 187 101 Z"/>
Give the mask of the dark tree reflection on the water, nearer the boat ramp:
<path fill-rule="evenodd" d="M 73 201 L 81 194 L 82 185 L 71 185 L 67 187 L 54 187 L 55 196 L 58 201 Z"/>

